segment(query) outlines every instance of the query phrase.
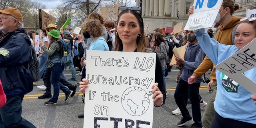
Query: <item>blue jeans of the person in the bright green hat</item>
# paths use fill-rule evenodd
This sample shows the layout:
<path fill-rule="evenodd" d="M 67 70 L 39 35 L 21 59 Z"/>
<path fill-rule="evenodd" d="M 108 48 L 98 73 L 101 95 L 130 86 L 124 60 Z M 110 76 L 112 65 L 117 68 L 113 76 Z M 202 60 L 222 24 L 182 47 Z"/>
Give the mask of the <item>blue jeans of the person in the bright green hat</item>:
<path fill-rule="evenodd" d="M 53 96 L 51 98 L 52 101 L 58 102 L 58 96 L 60 94 L 60 74 L 62 74 L 64 70 L 64 65 L 61 65 L 61 63 L 56 63 L 54 66 L 51 67 L 51 81 L 53 85 Z M 66 93 L 67 90 L 62 90 Z"/>

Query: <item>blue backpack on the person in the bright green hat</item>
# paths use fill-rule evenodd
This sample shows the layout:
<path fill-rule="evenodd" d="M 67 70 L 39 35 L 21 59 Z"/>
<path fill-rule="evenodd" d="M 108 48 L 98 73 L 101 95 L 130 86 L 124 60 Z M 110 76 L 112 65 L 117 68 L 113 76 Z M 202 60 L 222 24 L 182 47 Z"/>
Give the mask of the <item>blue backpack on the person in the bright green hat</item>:
<path fill-rule="evenodd" d="M 60 50 L 61 50 L 61 56 L 62 56 L 62 58 L 59 58 L 60 62 L 64 66 L 69 66 L 72 62 L 70 42 L 64 42 L 64 40 L 61 39 L 60 45 L 61 45 Z"/>

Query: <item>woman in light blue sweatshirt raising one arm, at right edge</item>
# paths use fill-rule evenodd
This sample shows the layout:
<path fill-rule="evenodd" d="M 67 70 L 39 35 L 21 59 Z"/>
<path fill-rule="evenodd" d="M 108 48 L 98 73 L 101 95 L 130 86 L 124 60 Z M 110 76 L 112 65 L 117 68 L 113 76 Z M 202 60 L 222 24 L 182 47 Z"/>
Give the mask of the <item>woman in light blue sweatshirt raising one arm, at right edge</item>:
<path fill-rule="evenodd" d="M 241 21 L 236 29 L 235 46 L 219 44 L 210 38 L 205 29 L 194 31 L 201 48 L 214 64 L 221 63 L 256 38 L 256 18 L 243 18 Z M 256 82 L 255 72 L 256 68 L 252 68 L 244 72 L 244 75 Z M 233 80 L 219 70 L 216 70 L 216 79 L 218 91 L 214 102 L 215 115 L 210 128 L 256 128 L 256 94 L 252 95 L 243 86 L 233 84 Z M 222 83 L 225 80 L 228 85 L 236 88 L 228 89 Z"/>

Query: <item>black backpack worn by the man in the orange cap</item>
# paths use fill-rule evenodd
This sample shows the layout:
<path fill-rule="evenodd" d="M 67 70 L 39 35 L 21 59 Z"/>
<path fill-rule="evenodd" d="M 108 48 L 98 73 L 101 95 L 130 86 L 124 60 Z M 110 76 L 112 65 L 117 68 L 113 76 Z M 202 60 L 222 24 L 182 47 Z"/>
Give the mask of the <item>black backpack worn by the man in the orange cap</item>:
<path fill-rule="evenodd" d="M 10 39 L 15 36 L 22 36 L 24 38 L 28 38 L 28 36 L 26 34 L 18 33 L 16 35 L 12 35 L 10 37 Z M 36 50 L 35 50 L 34 46 L 32 46 L 32 44 L 30 45 L 30 51 L 31 51 L 31 56 L 30 56 L 29 63 L 28 63 L 28 72 L 29 72 L 30 76 L 32 77 L 32 81 L 36 82 L 40 79 L 39 78 L 39 60 L 36 55 Z"/>

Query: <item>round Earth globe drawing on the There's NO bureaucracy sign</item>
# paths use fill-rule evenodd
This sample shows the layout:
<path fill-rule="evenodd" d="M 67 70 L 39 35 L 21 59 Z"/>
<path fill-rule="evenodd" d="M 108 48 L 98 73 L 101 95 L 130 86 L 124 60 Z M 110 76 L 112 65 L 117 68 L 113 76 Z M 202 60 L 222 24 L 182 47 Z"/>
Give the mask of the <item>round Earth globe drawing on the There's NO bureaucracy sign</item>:
<path fill-rule="evenodd" d="M 132 116 L 144 114 L 150 102 L 147 92 L 139 87 L 127 88 L 122 94 L 121 101 L 124 110 Z"/>

